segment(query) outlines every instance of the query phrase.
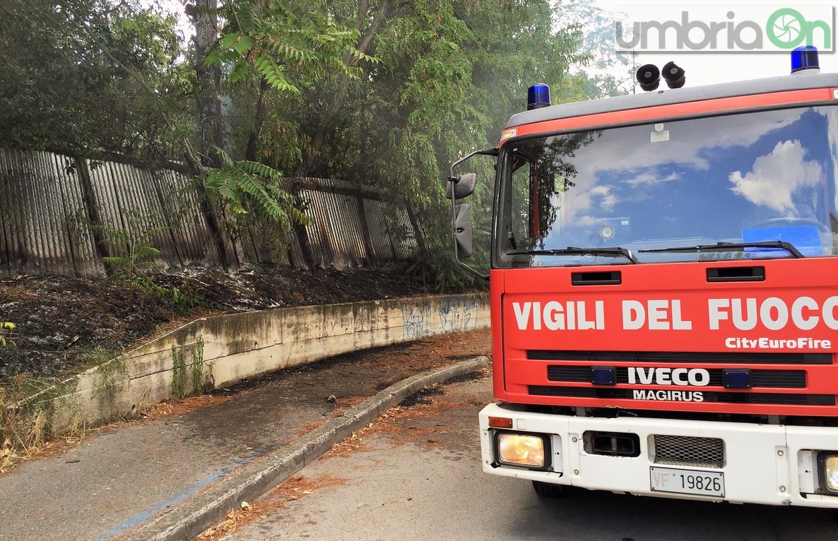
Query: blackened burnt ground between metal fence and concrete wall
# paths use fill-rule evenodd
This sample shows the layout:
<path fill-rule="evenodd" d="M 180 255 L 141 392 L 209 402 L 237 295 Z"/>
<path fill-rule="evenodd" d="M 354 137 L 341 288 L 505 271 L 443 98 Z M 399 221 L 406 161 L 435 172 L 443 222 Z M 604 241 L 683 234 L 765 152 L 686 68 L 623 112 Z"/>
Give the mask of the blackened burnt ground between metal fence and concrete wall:
<path fill-rule="evenodd" d="M 149 275 L 154 286 L 72 276 L 0 277 L 0 386 L 44 380 L 116 356 L 196 317 L 427 294 L 407 265 L 321 269 L 250 265 Z M 3 328 L 12 322 L 13 329 Z"/>

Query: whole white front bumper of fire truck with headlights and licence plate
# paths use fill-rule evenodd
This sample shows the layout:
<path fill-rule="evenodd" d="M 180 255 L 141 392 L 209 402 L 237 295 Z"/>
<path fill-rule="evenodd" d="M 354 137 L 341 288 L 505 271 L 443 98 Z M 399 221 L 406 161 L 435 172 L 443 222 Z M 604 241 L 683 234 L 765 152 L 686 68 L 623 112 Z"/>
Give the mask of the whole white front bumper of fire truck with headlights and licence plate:
<path fill-rule="evenodd" d="M 838 428 L 548 415 L 489 404 L 483 469 L 505 477 L 736 503 L 838 508 Z"/>

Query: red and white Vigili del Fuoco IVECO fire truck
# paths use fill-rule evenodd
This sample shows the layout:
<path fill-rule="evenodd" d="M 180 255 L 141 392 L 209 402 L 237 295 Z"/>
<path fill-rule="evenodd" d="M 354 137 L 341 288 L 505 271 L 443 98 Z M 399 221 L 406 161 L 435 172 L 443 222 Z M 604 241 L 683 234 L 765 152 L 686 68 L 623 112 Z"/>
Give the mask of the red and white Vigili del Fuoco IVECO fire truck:
<path fill-rule="evenodd" d="M 838 508 L 838 75 L 816 67 L 795 50 L 793 75 L 679 88 L 667 64 L 671 90 L 557 106 L 536 85 L 454 163 L 460 260 L 455 167 L 497 157 L 484 471 Z"/>

